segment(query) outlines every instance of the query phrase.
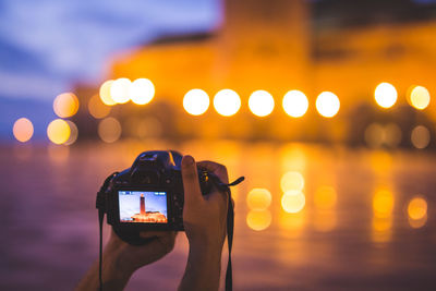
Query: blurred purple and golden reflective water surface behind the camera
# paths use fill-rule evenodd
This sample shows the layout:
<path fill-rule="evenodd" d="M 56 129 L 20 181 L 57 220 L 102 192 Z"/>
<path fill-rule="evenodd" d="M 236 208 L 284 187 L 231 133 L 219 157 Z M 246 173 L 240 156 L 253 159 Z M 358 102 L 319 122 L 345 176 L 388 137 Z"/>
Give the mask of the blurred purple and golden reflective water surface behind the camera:
<path fill-rule="evenodd" d="M 408 289 L 404 280 L 435 289 L 433 155 L 159 140 L 47 148 L 23 144 L 0 151 L 8 169 L 1 209 L 10 226 L 3 248 L 13 275 L 0 289 L 52 289 L 56 280 L 72 288 L 89 265 L 84 262 L 97 257 L 94 193 L 101 181 L 130 167 L 141 151 L 162 148 L 223 163 L 230 181 L 245 175 L 232 190 L 235 290 L 401 290 Z M 20 183 L 22 177 L 26 183 Z M 179 235 L 174 251 L 140 270 L 128 290 L 145 283 L 175 289 L 186 247 Z M 45 274 L 58 279 L 37 279 Z"/>

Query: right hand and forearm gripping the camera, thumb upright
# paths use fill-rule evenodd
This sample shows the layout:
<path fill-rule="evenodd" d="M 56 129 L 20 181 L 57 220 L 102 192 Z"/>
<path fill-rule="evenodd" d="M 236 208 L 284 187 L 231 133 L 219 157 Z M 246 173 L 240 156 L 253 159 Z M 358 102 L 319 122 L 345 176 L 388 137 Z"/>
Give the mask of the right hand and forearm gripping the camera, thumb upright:
<path fill-rule="evenodd" d="M 203 196 L 197 166 L 228 183 L 225 166 L 213 161 L 195 163 L 191 156 L 182 159 L 184 190 L 183 226 L 190 242 L 186 269 L 179 291 L 218 290 L 221 251 L 226 240 L 228 194 L 214 189 Z"/>

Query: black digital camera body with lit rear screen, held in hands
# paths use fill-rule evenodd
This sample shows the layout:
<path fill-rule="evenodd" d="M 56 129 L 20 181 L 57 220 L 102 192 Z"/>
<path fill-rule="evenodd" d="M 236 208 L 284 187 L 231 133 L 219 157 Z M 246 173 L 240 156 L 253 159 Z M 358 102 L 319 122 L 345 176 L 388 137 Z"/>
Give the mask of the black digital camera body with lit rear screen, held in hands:
<path fill-rule="evenodd" d="M 99 194 L 104 195 L 108 223 L 122 240 L 138 245 L 146 243 L 140 231 L 183 230 L 181 161 L 182 155 L 174 150 L 144 151 Z M 210 174 L 201 168 L 197 172 L 206 195 L 213 187 Z"/>

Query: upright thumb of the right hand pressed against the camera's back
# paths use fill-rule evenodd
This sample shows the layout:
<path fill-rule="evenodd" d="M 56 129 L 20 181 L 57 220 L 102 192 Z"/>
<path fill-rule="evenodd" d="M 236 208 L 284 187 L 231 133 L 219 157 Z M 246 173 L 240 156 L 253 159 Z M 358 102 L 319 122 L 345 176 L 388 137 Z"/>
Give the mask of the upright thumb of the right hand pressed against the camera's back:
<path fill-rule="evenodd" d="M 184 156 L 182 159 L 182 179 L 185 203 L 189 205 L 195 201 L 203 199 L 198 183 L 197 166 L 191 156 Z"/>

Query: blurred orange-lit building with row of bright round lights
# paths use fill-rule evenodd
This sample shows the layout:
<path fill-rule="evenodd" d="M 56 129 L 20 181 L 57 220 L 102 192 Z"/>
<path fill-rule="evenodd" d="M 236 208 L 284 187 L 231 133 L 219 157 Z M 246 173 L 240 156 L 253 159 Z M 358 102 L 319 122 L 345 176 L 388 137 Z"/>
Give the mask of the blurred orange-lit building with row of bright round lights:
<path fill-rule="evenodd" d="M 147 105 L 129 102 L 106 109 L 100 105 L 102 109 L 97 109 L 89 99 L 98 88 L 78 86 L 81 109 L 74 121 L 80 136 L 98 136 L 104 117 L 114 118 L 122 129 L 116 130 L 114 140 L 121 134 L 396 147 L 412 146 L 410 136 L 417 125 L 435 135 L 431 95 L 424 106 L 417 105 L 420 110 L 409 106 L 407 97 L 414 85 L 436 93 L 435 4 L 227 0 L 222 15 L 222 24 L 215 31 L 168 35 L 111 60 L 107 78 L 146 77 L 153 82 L 156 94 Z M 374 90 L 383 82 L 392 84 L 398 93 L 392 108 L 380 108 L 375 101 Z M 226 100 L 220 105 L 214 96 L 227 88 L 233 92 L 220 93 Z M 191 89 L 204 90 L 209 101 L 204 93 L 203 99 L 190 96 L 196 107 L 185 110 L 189 104 L 183 97 Z M 263 95 L 252 96 L 256 90 Z M 300 101 L 283 110 L 283 96 L 290 90 L 300 90 Z M 322 95 L 325 98 L 316 99 L 323 92 L 327 92 Z M 231 96 L 234 93 L 238 95 Z M 428 102 L 429 107 L 421 110 Z M 300 111 L 292 113 L 296 108 Z"/>

